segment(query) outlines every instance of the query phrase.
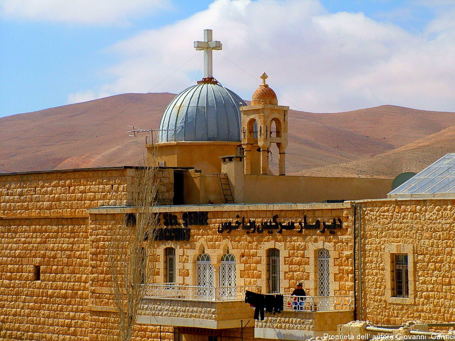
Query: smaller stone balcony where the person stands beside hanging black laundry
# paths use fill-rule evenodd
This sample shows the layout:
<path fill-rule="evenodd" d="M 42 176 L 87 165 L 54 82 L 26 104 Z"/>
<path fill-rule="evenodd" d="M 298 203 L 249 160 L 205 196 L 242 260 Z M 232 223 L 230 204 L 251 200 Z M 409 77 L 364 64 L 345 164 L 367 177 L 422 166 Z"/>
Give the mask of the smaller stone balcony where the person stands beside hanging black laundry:
<path fill-rule="evenodd" d="M 337 327 L 354 318 L 353 296 L 284 295 L 284 311 L 256 321 L 254 337 L 301 340 L 336 334 Z"/>

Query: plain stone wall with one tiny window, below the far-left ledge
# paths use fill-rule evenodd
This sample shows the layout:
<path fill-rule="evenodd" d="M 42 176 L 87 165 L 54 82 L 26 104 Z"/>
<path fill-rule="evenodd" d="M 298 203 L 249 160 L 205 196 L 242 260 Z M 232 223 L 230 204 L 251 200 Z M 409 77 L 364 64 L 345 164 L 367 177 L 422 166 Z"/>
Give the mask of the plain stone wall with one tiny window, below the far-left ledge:
<path fill-rule="evenodd" d="M 0 219 L 0 339 L 88 340 L 87 223 Z"/>

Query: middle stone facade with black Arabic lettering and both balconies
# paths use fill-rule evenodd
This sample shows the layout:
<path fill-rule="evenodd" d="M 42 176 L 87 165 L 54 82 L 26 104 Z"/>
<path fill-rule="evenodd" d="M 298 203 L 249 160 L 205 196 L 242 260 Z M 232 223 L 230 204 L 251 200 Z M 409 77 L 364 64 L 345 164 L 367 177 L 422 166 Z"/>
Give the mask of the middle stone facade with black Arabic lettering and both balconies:
<path fill-rule="evenodd" d="M 150 286 L 150 296 L 145 300 L 139 323 L 199 328 L 199 332 L 215 329 L 222 339 L 230 339 L 229 335 L 241 337 L 242 326 L 248 325 L 245 330 L 258 339 L 282 339 L 280 335 L 284 333 L 288 334 L 287 339 L 299 339 L 321 336 L 324 331 L 334 333 L 337 325 L 352 320 L 353 209 L 350 203 L 172 206 L 157 207 L 156 210 L 161 218 L 164 215 L 173 216 L 179 224 L 174 226 L 183 226 L 185 217 L 190 215 L 205 217 L 205 221 L 202 225 L 188 225 L 189 240 L 154 241 L 154 284 Z M 90 209 L 90 217 L 96 217 L 90 219 L 93 224 L 90 228 L 98 231 L 96 233 L 105 231 L 103 226 L 111 224 L 115 217 L 121 223 L 127 213 L 127 208 Z M 307 225 L 303 224 L 304 216 Z M 341 224 L 332 226 L 334 218 L 339 219 Z M 274 219 L 278 222 L 277 225 L 273 222 Z M 324 231 L 323 225 L 316 229 L 313 226 L 316 220 L 321 224 L 330 223 L 331 226 Z M 253 221 L 256 223 L 255 229 L 251 228 Z M 295 224 L 292 228 L 291 222 Z M 269 225 L 261 227 L 261 223 Z M 280 228 L 279 223 L 284 227 Z M 180 227 L 161 225 L 159 228 Z M 104 247 L 98 245 L 97 249 L 102 250 Z M 175 255 L 175 283 L 172 285 L 167 283 L 165 269 L 169 249 Z M 268 278 L 267 259 L 270 250 L 278 251 L 276 288 L 271 288 Z M 323 305 L 318 302 L 305 311 L 296 312 L 290 306 L 281 314 L 266 314 L 264 321 L 254 323 L 254 311 L 244 302 L 246 290 L 264 294 L 284 293 L 285 301 L 289 301 L 289 295 L 296 284 L 303 282 L 308 296 L 321 296 L 319 290 L 323 278 L 318 278 L 317 258 L 321 250 L 328 255 L 327 278 L 324 282 L 327 285 L 326 295 L 337 298 L 339 302 L 327 302 L 327 306 L 332 308 L 327 311 L 318 311 L 323 310 Z M 199 262 L 202 255 L 205 264 Z M 234 263 L 234 270 L 230 270 L 230 285 L 226 285 L 228 274 L 223 270 L 226 255 L 230 255 L 230 260 Z M 200 265 L 208 266 L 209 269 L 201 270 Z M 93 273 L 104 268 L 105 266 L 97 266 Z M 208 278 L 202 283 L 200 271 L 205 271 Z M 108 305 L 108 294 L 104 296 L 105 299 L 101 294 L 107 291 L 98 285 L 109 286 L 110 283 L 93 283 L 93 290 L 100 293 L 100 305 Z M 206 289 L 204 285 L 210 288 Z M 223 293 L 226 287 L 228 291 Z M 176 292 L 178 295 L 175 295 Z M 309 298 L 308 302 L 310 300 Z M 289 302 L 291 304 L 293 299 Z M 318 304 L 319 309 L 316 307 Z M 186 340 L 198 339 L 197 336 L 191 337 L 188 334 L 182 337 Z M 247 339 L 245 335 L 244 339 Z"/>

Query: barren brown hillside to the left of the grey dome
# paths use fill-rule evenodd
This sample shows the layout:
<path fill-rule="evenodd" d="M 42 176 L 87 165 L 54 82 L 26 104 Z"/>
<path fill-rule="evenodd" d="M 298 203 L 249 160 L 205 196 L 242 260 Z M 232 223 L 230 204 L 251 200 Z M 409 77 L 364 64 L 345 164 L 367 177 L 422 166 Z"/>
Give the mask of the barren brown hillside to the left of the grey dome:
<path fill-rule="evenodd" d="M 127 125 L 158 127 L 171 93 L 126 93 L 0 118 L 0 172 L 136 165 L 144 139 Z"/>

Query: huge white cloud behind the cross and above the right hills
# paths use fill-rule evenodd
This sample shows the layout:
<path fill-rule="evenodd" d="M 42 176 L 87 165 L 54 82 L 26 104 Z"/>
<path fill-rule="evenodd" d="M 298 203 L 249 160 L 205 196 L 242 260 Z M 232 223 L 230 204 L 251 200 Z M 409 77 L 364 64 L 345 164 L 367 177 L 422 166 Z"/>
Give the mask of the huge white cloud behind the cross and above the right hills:
<path fill-rule="evenodd" d="M 223 43 L 213 53 L 214 76 L 246 100 L 265 71 L 280 104 L 289 105 L 287 99 L 304 111 L 384 104 L 455 111 L 450 13 L 418 34 L 362 13 L 330 14 L 316 0 L 217 0 L 185 20 L 112 46 L 123 62 L 106 70 L 116 80 L 97 96 L 179 92 L 195 84 L 203 56 L 193 41 L 211 28 Z"/>

